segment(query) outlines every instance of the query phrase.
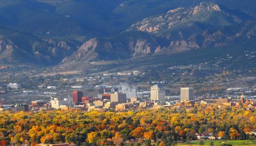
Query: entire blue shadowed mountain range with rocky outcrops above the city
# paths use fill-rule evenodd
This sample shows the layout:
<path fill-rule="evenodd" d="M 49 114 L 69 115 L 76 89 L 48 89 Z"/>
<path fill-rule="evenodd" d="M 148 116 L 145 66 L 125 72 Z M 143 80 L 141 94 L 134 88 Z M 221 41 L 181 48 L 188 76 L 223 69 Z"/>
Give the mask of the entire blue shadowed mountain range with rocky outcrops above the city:
<path fill-rule="evenodd" d="M 256 30 L 253 4 L 1 1 L 0 63 L 66 67 L 250 42 Z"/>

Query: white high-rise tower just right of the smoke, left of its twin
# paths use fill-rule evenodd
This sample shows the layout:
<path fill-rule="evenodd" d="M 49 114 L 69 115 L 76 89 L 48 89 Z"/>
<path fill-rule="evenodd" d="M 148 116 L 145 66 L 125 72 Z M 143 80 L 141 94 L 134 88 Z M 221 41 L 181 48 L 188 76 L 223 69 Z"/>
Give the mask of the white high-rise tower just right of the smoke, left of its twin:
<path fill-rule="evenodd" d="M 165 102 L 165 90 L 162 86 L 154 85 L 151 87 L 150 100 Z"/>

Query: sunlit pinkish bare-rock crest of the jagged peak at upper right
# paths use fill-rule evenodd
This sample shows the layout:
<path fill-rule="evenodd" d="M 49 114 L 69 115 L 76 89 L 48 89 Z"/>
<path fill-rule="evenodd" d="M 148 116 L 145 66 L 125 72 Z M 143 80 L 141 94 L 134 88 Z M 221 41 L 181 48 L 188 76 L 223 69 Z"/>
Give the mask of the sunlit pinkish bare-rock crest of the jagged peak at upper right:
<path fill-rule="evenodd" d="M 211 27 L 225 27 L 242 21 L 243 17 L 222 11 L 215 3 L 200 3 L 194 8 L 176 8 L 156 17 L 145 18 L 132 25 L 128 31 L 161 33 L 181 25 L 191 25 L 193 22 L 202 22 Z"/>

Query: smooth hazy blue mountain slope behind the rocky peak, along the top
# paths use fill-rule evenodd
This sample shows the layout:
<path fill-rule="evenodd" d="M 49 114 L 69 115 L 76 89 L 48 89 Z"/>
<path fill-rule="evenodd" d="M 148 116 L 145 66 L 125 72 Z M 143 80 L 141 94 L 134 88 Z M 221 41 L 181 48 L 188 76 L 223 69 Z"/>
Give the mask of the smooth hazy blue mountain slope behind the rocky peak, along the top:
<path fill-rule="evenodd" d="M 178 7 L 195 7 L 202 1 L 78 1 L 78 0 L 3 0 L 0 25 L 48 36 L 75 37 L 79 40 L 112 36 L 143 18 L 166 13 Z M 230 9 L 254 15 L 256 2 L 213 1 Z"/>

